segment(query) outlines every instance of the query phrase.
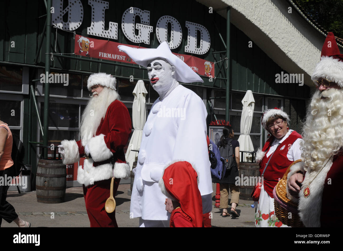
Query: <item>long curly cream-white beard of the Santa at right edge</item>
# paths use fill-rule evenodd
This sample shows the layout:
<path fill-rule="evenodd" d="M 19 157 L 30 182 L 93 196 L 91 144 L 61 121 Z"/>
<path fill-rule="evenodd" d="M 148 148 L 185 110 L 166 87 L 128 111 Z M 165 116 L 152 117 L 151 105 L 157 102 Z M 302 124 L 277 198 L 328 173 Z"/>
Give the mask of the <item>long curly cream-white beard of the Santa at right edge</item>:
<path fill-rule="evenodd" d="M 321 99 L 321 97 L 326 99 Z M 330 88 L 312 97 L 300 143 L 305 170 L 320 170 L 343 146 L 343 90 Z"/>

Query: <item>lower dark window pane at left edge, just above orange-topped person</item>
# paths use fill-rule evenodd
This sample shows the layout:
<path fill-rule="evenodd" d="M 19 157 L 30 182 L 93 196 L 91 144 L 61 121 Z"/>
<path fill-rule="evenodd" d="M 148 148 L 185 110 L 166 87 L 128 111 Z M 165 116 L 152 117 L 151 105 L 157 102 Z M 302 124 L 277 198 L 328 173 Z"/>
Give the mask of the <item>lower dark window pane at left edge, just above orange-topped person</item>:
<path fill-rule="evenodd" d="M 0 100 L 0 119 L 9 126 L 20 126 L 20 101 Z"/>

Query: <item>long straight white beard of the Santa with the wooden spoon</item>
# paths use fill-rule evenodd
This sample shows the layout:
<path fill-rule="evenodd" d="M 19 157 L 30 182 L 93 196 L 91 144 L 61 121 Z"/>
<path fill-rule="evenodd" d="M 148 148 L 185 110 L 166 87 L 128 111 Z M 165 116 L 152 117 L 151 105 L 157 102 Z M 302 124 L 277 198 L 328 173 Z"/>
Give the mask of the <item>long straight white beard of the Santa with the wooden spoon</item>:
<path fill-rule="evenodd" d="M 93 96 L 90 101 L 88 101 L 87 106 L 82 113 L 80 127 L 81 142 L 83 146 L 86 146 L 88 140 L 95 136 L 101 119 L 106 115 L 108 106 L 116 99 L 119 99 L 117 91 L 104 87 L 98 96 Z"/>

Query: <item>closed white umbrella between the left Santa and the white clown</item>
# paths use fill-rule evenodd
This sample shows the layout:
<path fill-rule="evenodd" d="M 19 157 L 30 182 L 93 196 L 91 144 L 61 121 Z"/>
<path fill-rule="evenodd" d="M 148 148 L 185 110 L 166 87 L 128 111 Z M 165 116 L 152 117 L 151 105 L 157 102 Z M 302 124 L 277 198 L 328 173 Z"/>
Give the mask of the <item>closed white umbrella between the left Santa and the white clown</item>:
<path fill-rule="evenodd" d="M 137 150 L 141 146 L 143 127 L 146 121 L 145 97 L 147 93 L 143 80 L 138 80 L 132 92 L 134 96 L 132 104 L 132 123 L 134 131 L 125 155 L 126 162 L 129 163 L 131 170 L 133 162 L 137 161 L 138 158 L 138 152 L 131 150 Z"/>

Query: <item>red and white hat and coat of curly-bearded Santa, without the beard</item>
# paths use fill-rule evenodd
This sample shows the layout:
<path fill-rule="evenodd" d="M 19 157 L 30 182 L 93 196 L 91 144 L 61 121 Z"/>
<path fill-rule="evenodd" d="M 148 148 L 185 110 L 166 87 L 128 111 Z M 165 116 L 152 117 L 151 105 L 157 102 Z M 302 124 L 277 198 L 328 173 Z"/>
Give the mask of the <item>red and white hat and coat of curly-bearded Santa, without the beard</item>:
<path fill-rule="evenodd" d="M 325 39 L 320 62 L 311 76 L 314 81 L 321 78 L 327 78 L 341 88 L 343 87 L 343 54 L 340 53 L 332 32 L 329 32 Z M 305 174 L 299 199 L 291 196 L 287 190 L 288 198 L 299 203 L 299 216 L 305 227 L 333 227 L 343 223 L 342 151 L 326 162 L 327 164 L 322 169 L 318 168 L 310 172 L 305 172 L 303 162 L 296 163 L 287 176 L 288 180 L 297 172 Z M 309 195 L 305 197 L 304 190 L 309 183 Z"/>

